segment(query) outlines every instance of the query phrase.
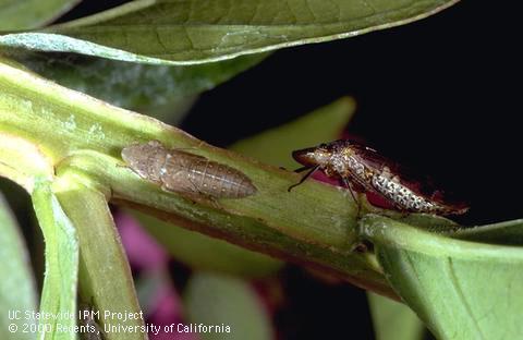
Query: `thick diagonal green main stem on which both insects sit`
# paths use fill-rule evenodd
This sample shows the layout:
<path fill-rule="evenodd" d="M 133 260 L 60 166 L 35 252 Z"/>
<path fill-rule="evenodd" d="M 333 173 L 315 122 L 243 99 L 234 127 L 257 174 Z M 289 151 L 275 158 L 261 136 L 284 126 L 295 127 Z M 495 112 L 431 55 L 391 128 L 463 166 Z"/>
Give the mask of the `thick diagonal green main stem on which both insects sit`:
<path fill-rule="evenodd" d="M 42 155 L 42 163 L 28 172 L 10 160 L 13 155 L 23 158 L 24 149 L 16 154 L 16 146 L 11 145 L 10 153 L 3 153 L 0 145 L 0 162 L 10 163 L 5 168 L 10 171 L 0 167 L 1 173 L 15 181 L 22 178 L 19 183 L 29 192 L 26 183 L 42 169 L 51 168 L 56 173 L 74 170 L 97 183 L 97 190 L 112 202 L 394 295 L 374 258 L 353 252 L 358 242 L 357 207 L 345 191 L 307 181 L 289 193 L 287 189 L 300 175 L 209 146 L 157 120 L 5 63 L 0 63 L 0 135 L 23 139 Z M 239 169 L 253 180 L 258 193 L 214 205 L 165 192 L 125 168 L 120 157 L 123 147 L 150 139 Z"/>

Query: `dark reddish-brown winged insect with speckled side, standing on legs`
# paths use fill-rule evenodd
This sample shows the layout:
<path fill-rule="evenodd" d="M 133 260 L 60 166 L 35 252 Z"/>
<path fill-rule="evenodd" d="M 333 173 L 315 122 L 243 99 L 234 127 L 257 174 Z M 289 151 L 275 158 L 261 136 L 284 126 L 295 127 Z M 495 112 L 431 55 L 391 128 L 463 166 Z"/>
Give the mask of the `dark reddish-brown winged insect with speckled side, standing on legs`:
<path fill-rule="evenodd" d="M 352 141 L 341 139 L 296 150 L 292 157 L 305 166 L 296 171 L 311 171 L 289 191 L 319 169 L 343 181 L 354 201 L 352 190 L 374 192 L 402 211 L 459 215 L 469 209 L 464 204 L 443 201 L 441 191 L 425 187 L 426 183 L 411 179 L 396 162 Z"/>

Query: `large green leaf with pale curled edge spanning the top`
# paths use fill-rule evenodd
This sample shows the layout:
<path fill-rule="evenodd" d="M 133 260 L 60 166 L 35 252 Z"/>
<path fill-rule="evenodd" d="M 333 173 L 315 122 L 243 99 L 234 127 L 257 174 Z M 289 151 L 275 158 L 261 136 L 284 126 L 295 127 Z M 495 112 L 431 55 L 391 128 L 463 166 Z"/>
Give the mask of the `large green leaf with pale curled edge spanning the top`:
<path fill-rule="evenodd" d="M 0 37 L 4 47 L 191 64 L 353 37 L 410 23 L 457 0 L 137 0 L 45 33 Z"/>

